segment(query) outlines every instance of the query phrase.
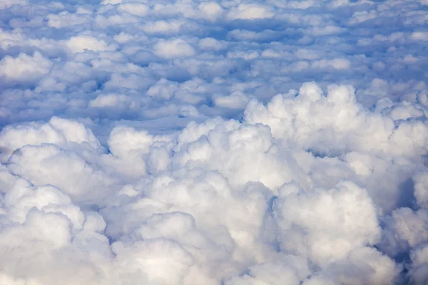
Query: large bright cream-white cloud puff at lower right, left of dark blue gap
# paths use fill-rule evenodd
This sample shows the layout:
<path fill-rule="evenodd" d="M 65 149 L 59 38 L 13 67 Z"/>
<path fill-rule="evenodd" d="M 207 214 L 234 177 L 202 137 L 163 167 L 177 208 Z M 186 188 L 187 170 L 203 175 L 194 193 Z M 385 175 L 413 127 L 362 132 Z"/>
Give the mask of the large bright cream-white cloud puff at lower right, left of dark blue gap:
<path fill-rule="evenodd" d="M 350 182 L 327 191 L 295 188 L 283 185 L 274 204 L 285 252 L 295 251 L 324 267 L 346 259 L 353 249 L 379 242 L 376 211 L 365 190 Z"/>

